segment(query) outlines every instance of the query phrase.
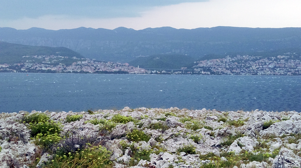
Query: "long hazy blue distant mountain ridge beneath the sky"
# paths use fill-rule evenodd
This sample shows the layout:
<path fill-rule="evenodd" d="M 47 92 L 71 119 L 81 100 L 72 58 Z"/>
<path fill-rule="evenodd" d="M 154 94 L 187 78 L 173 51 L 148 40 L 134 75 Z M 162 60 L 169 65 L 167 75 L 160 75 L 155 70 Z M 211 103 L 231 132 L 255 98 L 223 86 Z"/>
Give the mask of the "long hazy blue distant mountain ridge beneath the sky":
<path fill-rule="evenodd" d="M 46 30 L 0 28 L 0 41 L 31 46 L 66 47 L 87 58 L 130 62 L 138 56 L 182 54 L 200 58 L 226 52 L 270 52 L 301 47 L 301 28 L 172 27 L 134 30 L 118 27 Z"/>

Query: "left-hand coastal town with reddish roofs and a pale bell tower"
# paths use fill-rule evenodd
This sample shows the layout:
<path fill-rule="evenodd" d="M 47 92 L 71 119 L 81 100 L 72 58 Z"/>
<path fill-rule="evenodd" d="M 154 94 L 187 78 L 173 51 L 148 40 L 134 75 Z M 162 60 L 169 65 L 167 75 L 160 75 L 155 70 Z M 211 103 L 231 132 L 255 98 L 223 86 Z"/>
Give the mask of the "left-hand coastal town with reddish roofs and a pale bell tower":
<path fill-rule="evenodd" d="M 58 63 L 69 59 L 62 56 L 23 56 L 24 63 L 2 64 L 0 72 L 47 72 L 47 73 L 146 73 L 145 69 L 128 63 L 99 62 L 95 59 L 72 57 L 71 65 Z M 33 59 L 33 60 L 31 60 Z M 70 59 L 69 59 L 70 62 Z"/>

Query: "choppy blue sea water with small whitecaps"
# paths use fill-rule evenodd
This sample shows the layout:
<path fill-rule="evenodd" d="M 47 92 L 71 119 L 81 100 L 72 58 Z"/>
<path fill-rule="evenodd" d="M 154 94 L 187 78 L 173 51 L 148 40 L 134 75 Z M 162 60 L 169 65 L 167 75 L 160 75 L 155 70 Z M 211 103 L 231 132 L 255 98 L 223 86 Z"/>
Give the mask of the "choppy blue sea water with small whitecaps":
<path fill-rule="evenodd" d="M 300 112 L 301 77 L 0 73 L 0 112 L 124 106 Z"/>

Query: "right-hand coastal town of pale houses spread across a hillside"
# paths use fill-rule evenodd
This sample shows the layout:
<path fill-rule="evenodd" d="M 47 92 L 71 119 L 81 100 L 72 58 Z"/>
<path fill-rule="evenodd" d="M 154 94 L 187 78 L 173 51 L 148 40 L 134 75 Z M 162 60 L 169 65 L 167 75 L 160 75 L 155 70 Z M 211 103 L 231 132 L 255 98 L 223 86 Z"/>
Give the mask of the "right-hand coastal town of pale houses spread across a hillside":
<path fill-rule="evenodd" d="M 296 59 L 294 54 L 268 58 L 237 55 L 198 61 L 193 72 L 205 75 L 301 75 L 300 58 Z"/>

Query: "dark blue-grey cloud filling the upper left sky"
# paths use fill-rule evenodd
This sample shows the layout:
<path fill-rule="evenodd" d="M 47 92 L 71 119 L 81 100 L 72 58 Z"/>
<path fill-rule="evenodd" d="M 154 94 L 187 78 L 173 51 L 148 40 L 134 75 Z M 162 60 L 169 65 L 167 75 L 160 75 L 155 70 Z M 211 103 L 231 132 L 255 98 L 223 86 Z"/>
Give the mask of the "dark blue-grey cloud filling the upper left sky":
<path fill-rule="evenodd" d="M 152 7 L 208 0 L 0 0 L 0 19 L 16 20 L 49 15 L 72 18 L 139 17 Z"/>

